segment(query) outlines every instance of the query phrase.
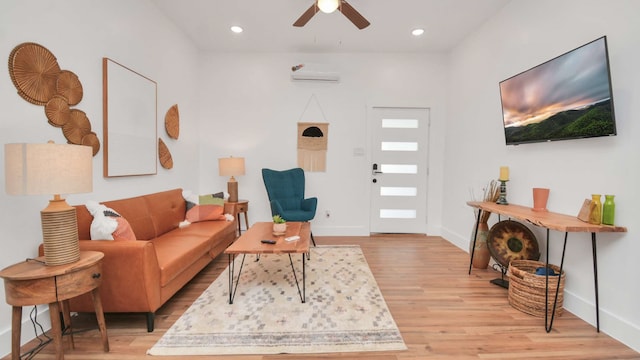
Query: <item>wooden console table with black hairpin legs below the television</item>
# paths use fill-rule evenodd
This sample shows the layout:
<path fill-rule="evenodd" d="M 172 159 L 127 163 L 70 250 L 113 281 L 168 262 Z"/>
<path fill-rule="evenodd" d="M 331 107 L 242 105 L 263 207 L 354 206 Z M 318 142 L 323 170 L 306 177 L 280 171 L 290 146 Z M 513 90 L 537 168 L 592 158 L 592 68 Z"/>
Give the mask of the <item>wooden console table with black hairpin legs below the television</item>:
<path fill-rule="evenodd" d="M 549 230 L 556 230 L 564 232 L 564 245 L 562 246 L 562 257 L 560 260 L 560 273 L 562 273 L 562 267 L 564 265 L 564 254 L 567 248 L 567 236 L 570 232 L 588 232 L 591 233 L 591 249 L 593 253 L 593 280 L 595 288 L 595 300 L 596 300 L 596 330 L 600 332 L 600 310 L 598 304 L 598 256 L 596 250 L 596 233 L 602 232 L 626 232 L 627 228 L 622 226 L 612 225 L 593 225 L 579 220 L 575 216 L 558 214 L 549 211 L 533 211 L 532 208 L 521 205 L 500 205 L 493 202 L 482 201 L 469 201 L 467 205 L 478 209 L 478 217 L 476 219 L 476 232 L 478 231 L 478 223 L 480 222 L 480 215 L 483 211 L 495 213 L 498 215 L 505 215 L 509 218 L 518 219 L 528 222 L 530 224 L 540 226 L 547 229 L 547 256 L 545 258 L 545 266 L 549 266 Z M 471 260 L 469 261 L 469 274 L 471 274 L 471 262 L 473 261 L 473 253 L 476 245 L 476 235 L 473 236 L 473 246 L 471 250 Z M 547 274 L 547 288 L 549 287 L 549 275 Z M 551 319 L 549 319 L 548 309 L 548 291 L 545 294 L 545 319 L 544 327 L 547 332 L 551 331 L 553 327 L 553 319 L 556 312 L 556 303 L 558 300 L 558 292 L 560 288 L 560 281 L 558 281 L 558 287 L 556 288 L 556 295 L 553 302 L 553 310 L 551 312 Z"/>

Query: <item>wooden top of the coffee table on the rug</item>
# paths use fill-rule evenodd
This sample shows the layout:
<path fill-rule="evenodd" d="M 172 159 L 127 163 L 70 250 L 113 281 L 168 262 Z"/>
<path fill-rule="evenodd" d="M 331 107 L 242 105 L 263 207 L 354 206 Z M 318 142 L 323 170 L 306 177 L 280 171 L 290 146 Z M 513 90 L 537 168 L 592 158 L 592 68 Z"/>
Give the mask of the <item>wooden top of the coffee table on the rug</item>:
<path fill-rule="evenodd" d="M 298 235 L 300 239 L 286 241 L 284 238 Z M 275 240 L 275 244 L 263 244 L 261 240 Z M 225 254 L 299 254 L 308 253 L 311 242 L 311 227 L 308 222 L 287 222 L 284 235 L 273 235 L 272 222 L 255 223 L 225 251 Z"/>

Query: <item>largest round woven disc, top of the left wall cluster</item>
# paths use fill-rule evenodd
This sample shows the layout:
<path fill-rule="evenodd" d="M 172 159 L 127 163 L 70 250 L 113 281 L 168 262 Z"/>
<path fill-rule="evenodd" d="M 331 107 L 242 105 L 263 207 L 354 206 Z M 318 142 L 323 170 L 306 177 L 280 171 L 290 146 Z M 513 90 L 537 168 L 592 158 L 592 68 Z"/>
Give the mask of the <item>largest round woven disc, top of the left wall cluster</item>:
<path fill-rule="evenodd" d="M 56 94 L 60 66 L 42 45 L 22 43 L 9 54 L 9 75 L 18 94 L 36 105 L 45 105 Z"/>

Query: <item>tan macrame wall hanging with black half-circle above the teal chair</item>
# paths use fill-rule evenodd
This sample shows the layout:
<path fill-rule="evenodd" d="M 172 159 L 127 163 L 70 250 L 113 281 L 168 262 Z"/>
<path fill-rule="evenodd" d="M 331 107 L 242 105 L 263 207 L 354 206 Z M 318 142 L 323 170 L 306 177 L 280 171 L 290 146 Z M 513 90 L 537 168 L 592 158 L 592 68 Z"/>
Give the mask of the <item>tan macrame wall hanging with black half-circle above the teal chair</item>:
<path fill-rule="evenodd" d="M 309 98 L 300 118 L 302 120 L 305 117 L 311 100 L 315 100 L 317 112 L 324 122 L 298 122 L 298 166 L 305 171 L 324 172 L 327 169 L 329 123 L 315 94 Z M 313 116 L 318 118 L 318 114 Z"/>

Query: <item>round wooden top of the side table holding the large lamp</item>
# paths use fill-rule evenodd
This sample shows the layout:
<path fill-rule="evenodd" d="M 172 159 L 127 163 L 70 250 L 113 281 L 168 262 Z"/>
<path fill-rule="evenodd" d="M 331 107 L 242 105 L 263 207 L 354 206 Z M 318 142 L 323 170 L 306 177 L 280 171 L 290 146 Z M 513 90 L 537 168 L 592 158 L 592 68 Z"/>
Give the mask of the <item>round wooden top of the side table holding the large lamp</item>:
<path fill-rule="evenodd" d="M 8 266 L 0 271 L 0 277 L 7 280 L 33 280 L 73 273 L 80 269 L 94 265 L 104 257 L 99 251 L 81 251 L 80 260 L 64 265 L 48 266 L 44 263 L 44 256 L 29 259 Z"/>

